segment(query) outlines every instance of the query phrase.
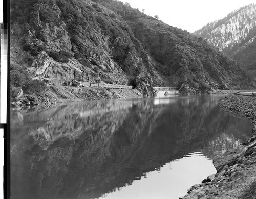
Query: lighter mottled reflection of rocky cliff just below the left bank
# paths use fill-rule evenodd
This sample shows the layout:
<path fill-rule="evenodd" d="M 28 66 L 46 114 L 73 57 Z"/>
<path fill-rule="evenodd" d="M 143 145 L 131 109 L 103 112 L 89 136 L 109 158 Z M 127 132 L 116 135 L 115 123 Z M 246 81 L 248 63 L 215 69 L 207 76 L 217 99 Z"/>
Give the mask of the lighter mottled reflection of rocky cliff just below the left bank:
<path fill-rule="evenodd" d="M 24 128 L 29 128 L 32 124 L 33 128 L 31 128 L 32 131 L 29 134 L 33 135 L 34 140 L 41 147 L 47 148 L 49 144 L 63 137 L 74 140 L 81 133 L 95 128 L 99 124 L 106 123 L 107 125 L 105 126 L 108 126 L 111 122 L 111 125 L 114 125 L 117 121 L 116 117 L 125 117 L 125 112 L 127 109 L 132 108 L 134 103 L 136 102 L 118 100 L 93 101 L 51 107 L 38 112 L 38 114 L 35 112 L 31 114 L 30 111 L 12 112 L 12 121 L 14 121 L 12 122 L 12 138 L 20 136 L 20 131 L 16 131 L 20 125 Z M 23 117 L 22 121 L 17 119 L 17 116 L 20 118 L 20 115 Z M 103 125 L 103 131 L 105 126 Z M 115 127 L 112 127 L 112 129 L 114 130 Z M 15 132 L 18 132 L 18 134 L 15 135 Z"/>

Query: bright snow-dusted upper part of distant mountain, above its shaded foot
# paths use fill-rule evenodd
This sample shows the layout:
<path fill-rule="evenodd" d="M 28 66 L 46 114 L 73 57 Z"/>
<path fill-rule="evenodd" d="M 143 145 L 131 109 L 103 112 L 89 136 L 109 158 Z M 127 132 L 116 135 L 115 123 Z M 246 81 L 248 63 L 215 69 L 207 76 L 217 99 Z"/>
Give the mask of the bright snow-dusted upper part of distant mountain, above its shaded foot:
<path fill-rule="evenodd" d="M 219 49 L 230 52 L 256 35 L 256 4 L 249 4 L 194 32 Z"/>

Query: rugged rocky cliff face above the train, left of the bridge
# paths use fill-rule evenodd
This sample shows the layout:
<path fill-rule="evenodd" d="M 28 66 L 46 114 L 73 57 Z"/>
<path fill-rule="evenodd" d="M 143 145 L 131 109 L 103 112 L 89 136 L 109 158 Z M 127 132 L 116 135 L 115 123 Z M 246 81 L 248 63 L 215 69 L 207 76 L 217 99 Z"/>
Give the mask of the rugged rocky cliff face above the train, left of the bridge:
<path fill-rule="evenodd" d="M 142 47 L 133 45 L 129 35 L 104 34 L 102 29 L 105 27 L 100 27 L 97 22 L 103 17 L 95 20 L 100 12 L 114 12 L 86 1 L 81 8 L 75 2 L 67 4 L 75 10 L 69 11 L 73 15 L 66 14 L 66 2 L 62 3 L 65 5 L 60 1 L 38 1 L 31 4 L 29 21 L 24 29 L 15 21 L 13 23 L 12 46 L 21 47 L 21 54 L 29 57 L 29 63 L 23 64 L 32 79 L 68 86 L 75 81 L 135 84 L 144 95 L 150 95 L 153 82 L 147 68 L 152 66 L 146 65 L 150 57 Z M 82 24 L 76 24 L 77 18 Z M 16 45 L 20 37 L 23 37 L 21 46 Z M 13 55 L 14 63 L 15 57 Z M 140 72 L 135 71 L 138 67 Z"/>

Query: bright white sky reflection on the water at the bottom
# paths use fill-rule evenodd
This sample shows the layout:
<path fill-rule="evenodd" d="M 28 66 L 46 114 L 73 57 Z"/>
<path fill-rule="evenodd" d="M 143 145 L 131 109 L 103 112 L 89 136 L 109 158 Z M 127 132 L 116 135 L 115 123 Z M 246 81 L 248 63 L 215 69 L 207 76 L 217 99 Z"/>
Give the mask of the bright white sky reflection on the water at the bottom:
<path fill-rule="evenodd" d="M 183 196 L 191 185 L 198 184 L 209 173 L 215 172 L 211 160 L 202 153 L 195 152 L 145 173 L 141 180 L 104 194 L 101 198 L 177 199 Z"/>

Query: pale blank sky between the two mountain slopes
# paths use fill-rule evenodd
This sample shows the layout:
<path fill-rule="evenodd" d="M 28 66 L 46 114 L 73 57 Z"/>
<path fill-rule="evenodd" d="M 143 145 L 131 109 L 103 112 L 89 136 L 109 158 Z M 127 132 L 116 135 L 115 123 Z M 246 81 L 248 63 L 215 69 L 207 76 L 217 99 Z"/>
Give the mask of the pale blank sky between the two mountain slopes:
<path fill-rule="evenodd" d="M 256 0 L 122 0 L 173 27 L 194 32 Z"/>

